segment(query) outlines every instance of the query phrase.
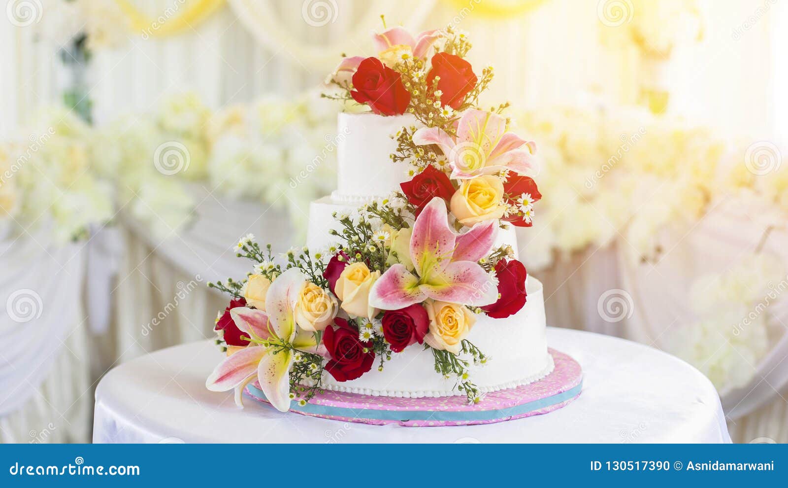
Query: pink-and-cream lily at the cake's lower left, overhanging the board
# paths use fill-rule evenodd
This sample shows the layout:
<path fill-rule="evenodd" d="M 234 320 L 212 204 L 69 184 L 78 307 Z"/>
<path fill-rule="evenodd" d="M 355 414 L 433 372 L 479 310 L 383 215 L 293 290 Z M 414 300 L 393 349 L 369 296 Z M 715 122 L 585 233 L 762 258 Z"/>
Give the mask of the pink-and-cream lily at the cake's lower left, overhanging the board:
<path fill-rule="evenodd" d="M 304 281 L 303 273 L 291 268 L 274 280 L 266 292 L 266 311 L 247 307 L 230 310 L 232 320 L 252 344 L 222 361 L 206 380 L 207 389 L 234 389 L 236 404 L 242 407 L 243 388 L 257 378 L 273 407 L 288 411 L 292 349 L 320 353 L 314 333 L 296 329 L 293 310 Z"/>

